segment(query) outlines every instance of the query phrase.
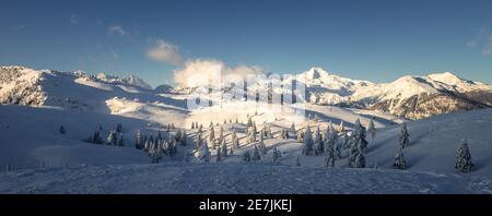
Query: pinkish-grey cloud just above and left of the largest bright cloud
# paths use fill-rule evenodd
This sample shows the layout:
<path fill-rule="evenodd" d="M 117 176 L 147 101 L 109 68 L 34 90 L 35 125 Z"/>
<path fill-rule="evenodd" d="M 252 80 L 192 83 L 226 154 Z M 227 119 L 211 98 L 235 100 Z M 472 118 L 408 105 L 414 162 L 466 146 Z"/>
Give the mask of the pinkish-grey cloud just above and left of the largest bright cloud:
<path fill-rule="evenodd" d="M 154 61 L 171 65 L 181 65 L 184 60 L 178 52 L 178 48 L 163 39 L 159 39 L 147 50 L 147 57 Z"/>

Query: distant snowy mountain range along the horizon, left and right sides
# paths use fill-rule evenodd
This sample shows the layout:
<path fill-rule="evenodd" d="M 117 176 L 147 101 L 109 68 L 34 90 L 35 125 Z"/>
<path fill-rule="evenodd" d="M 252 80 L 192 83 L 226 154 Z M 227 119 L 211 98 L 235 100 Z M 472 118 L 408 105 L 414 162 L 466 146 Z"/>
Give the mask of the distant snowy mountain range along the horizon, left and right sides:
<path fill-rule="evenodd" d="M 306 85 L 307 101 L 312 104 L 379 110 L 408 119 L 492 107 L 492 85 L 467 81 L 449 72 L 407 75 L 393 83 L 377 84 L 312 68 L 291 80 Z M 82 71 L 0 67 L 0 104 L 104 109 L 105 99 L 109 97 L 166 100 L 157 95 L 179 91 L 184 89 L 173 89 L 168 85 L 152 88 L 134 75 L 117 77 Z"/>

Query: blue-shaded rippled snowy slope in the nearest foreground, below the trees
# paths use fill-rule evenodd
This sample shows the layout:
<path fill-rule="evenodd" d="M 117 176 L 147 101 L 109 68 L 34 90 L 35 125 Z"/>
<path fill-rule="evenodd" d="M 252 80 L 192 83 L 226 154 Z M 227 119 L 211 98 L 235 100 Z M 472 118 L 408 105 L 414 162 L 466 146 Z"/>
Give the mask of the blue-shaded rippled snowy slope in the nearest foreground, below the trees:
<path fill-rule="evenodd" d="M 0 172 L 0 193 L 491 193 L 489 177 L 256 164 L 78 166 Z"/>

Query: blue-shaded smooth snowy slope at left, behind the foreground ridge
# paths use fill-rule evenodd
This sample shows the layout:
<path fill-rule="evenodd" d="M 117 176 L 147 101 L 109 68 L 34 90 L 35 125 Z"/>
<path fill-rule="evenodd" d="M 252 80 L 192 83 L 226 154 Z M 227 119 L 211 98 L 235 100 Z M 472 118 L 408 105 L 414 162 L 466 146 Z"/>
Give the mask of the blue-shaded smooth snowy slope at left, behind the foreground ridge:
<path fill-rule="evenodd" d="M 0 165 L 12 169 L 73 166 L 79 164 L 136 164 L 149 163 L 149 157 L 134 149 L 136 130 L 144 129 L 144 121 L 110 115 L 60 110 L 58 108 L 31 108 L 0 106 Z M 103 128 L 115 130 L 124 125 L 126 147 L 94 145 L 82 142 Z M 67 133 L 60 134 L 63 125 Z"/>

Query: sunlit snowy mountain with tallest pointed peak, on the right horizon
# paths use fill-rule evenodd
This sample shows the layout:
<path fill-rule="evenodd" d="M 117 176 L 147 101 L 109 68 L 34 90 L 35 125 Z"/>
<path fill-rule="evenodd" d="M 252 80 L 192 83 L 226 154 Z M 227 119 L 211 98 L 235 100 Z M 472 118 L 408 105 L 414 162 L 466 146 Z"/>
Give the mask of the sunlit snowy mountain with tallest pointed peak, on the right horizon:
<path fill-rule="evenodd" d="M 312 68 L 295 79 L 306 85 L 313 104 L 366 108 L 408 119 L 488 108 L 492 104 L 491 85 L 467 81 L 450 72 L 406 75 L 391 83 L 374 84 Z"/>

